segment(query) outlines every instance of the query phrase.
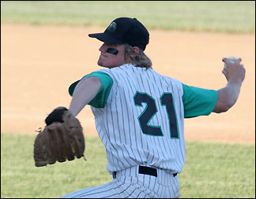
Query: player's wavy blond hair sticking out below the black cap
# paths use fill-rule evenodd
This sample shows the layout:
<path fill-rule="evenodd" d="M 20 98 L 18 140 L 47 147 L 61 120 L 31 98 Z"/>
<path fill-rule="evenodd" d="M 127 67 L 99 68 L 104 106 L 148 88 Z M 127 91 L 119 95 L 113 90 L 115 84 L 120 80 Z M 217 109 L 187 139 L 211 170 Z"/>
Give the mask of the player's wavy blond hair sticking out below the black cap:
<path fill-rule="evenodd" d="M 126 61 L 128 60 L 128 58 L 130 58 L 130 61 L 136 64 L 137 67 L 146 68 L 146 69 L 152 68 L 152 61 L 149 59 L 148 56 L 145 55 L 143 50 L 140 49 L 136 57 L 131 57 L 133 53 L 134 53 L 133 46 L 130 46 L 129 44 L 126 43 L 126 50 L 125 50 Z"/>

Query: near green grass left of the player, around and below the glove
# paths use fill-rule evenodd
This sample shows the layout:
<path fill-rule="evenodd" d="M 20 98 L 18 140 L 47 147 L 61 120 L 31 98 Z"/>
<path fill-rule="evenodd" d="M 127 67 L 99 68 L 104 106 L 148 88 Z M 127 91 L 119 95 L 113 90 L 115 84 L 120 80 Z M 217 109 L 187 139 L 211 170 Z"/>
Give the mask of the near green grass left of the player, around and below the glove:
<path fill-rule="evenodd" d="M 111 180 L 99 138 L 88 138 L 83 158 L 36 168 L 35 135 L 1 134 L 1 197 L 61 197 Z"/>

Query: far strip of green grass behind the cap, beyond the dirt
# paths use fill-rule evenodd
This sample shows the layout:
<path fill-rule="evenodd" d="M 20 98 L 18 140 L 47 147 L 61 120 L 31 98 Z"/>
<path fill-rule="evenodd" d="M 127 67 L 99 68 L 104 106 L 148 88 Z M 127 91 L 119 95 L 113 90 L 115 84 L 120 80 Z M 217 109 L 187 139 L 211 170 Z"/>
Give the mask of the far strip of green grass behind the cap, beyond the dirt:
<path fill-rule="evenodd" d="M 137 17 L 147 28 L 255 32 L 254 1 L 2 1 L 1 22 L 103 25 Z"/>

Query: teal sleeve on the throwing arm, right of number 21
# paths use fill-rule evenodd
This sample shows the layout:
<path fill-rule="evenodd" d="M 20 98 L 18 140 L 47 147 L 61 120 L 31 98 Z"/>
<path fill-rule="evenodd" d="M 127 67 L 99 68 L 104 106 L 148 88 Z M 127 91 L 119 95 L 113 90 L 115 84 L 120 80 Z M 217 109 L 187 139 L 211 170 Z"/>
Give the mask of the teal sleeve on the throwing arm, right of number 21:
<path fill-rule="evenodd" d="M 216 90 L 189 87 L 183 84 L 184 117 L 208 116 L 215 108 Z"/>

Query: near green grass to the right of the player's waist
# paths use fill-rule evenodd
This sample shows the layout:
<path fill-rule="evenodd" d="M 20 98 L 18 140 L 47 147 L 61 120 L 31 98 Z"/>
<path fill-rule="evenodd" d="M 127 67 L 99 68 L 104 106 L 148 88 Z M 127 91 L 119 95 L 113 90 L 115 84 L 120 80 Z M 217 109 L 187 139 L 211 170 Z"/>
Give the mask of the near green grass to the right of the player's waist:
<path fill-rule="evenodd" d="M 255 198 L 255 146 L 186 143 L 181 197 Z"/>

